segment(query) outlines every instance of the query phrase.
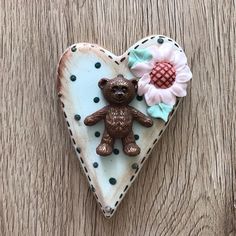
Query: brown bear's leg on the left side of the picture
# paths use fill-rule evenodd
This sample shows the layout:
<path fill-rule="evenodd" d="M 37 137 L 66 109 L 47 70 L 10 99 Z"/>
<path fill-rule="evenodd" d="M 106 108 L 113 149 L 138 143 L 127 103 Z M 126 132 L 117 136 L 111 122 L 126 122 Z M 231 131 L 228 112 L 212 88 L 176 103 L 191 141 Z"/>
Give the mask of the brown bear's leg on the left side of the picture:
<path fill-rule="evenodd" d="M 100 156 L 108 156 L 112 153 L 113 150 L 114 139 L 108 134 L 108 132 L 104 131 L 101 143 L 96 149 L 96 152 Z"/>

